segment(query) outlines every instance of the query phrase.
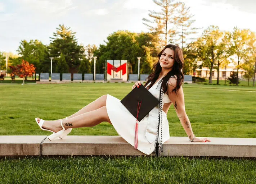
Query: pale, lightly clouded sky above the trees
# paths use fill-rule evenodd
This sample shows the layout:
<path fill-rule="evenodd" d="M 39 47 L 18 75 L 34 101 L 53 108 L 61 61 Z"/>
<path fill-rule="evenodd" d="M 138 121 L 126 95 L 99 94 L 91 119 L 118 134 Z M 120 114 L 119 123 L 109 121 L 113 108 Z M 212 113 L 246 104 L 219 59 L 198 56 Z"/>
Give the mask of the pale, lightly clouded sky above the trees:
<path fill-rule="evenodd" d="M 255 0 L 181 0 L 200 27 L 210 25 L 223 31 L 234 26 L 256 32 Z M 147 32 L 143 18 L 159 8 L 152 0 L 0 0 L 0 51 L 17 53 L 21 40 L 50 43 L 59 24 L 76 32 L 78 43 L 104 44 L 118 30 Z"/>

